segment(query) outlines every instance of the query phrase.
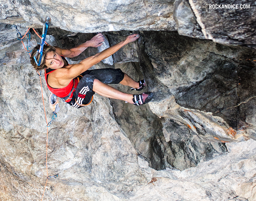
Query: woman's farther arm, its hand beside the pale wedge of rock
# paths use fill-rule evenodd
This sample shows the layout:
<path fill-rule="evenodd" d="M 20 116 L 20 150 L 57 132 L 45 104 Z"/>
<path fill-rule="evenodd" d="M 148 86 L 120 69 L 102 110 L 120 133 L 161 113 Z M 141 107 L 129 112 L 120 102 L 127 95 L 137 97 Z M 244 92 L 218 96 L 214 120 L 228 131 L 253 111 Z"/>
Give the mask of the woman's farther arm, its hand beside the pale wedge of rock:
<path fill-rule="evenodd" d="M 76 47 L 70 49 L 62 49 L 59 47 L 56 48 L 56 53 L 62 55 L 64 57 L 72 58 L 80 55 L 87 47 L 99 47 L 101 46 L 104 41 L 104 36 L 102 33 L 98 33 L 97 35 L 93 36 L 91 40 L 86 41 L 85 43 L 78 45 Z"/>

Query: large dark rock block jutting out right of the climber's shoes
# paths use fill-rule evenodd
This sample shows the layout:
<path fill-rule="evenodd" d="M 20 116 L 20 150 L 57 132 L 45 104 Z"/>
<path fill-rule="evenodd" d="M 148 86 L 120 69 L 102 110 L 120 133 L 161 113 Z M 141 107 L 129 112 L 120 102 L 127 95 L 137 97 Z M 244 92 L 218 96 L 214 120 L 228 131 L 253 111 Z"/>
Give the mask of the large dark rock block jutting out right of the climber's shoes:
<path fill-rule="evenodd" d="M 170 112 L 169 116 L 189 124 L 191 130 L 196 133 L 202 131 L 201 125 L 205 121 L 204 118 L 208 119 L 206 122 L 215 118 L 215 123 L 222 122 L 217 123 L 221 127 L 224 125 L 224 135 L 216 133 L 216 138 L 221 139 L 226 136 L 238 140 L 241 136 L 244 136 L 241 139 L 247 137 L 254 139 L 254 132 L 252 132 L 254 123 L 249 123 L 254 118 L 249 120 L 249 113 L 246 117 L 244 116 L 246 114 L 240 110 L 240 105 L 248 107 L 247 105 L 254 98 L 253 82 L 250 82 L 250 84 L 247 82 L 251 79 L 251 76 L 254 77 L 254 51 L 247 48 L 238 49 L 237 46 L 222 46 L 210 41 L 182 37 L 173 32 L 162 32 L 156 35 L 154 32 L 143 32 L 143 34 L 145 52 L 152 61 L 154 67 L 152 73 L 157 78 L 157 81 L 154 81 L 157 83 L 156 86 L 151 86 L 151 90 L 156 92 L 155 100 L 157 102 L 165 98 L 170 100 L 170 94 L 174 94 L 175 97 L 175 101 L 170 103 L 172 104 L 170 106 L 165 105 L 166 102 L 163 101 L 166 110 L 169 107 L 176 111 L 174 113 Z M 164 86 L 168 89 L 165 93 L 161 93 L 162 90 L 157 90 L 157 88 L 161 89 Z M 245 92 L 247 87 L 252 90 L 250 93 Z M 185 108 L 179 108 L 176 103 Z M 163 105 L 161 109 L 164 113 Z M 194 116 L 191 115 L 194 114 L 192 112 L 188 115 L 191 110 L 186 108 L 212 112 L 214 116 L 223 119 L 217 120 L 217 117 L 211 117 L 211 114 L 206 113 Z M 155 110 L 158 112 L 158 116 L 164 116 L 163 113 L 159 112 L 161 109 Z M 198 122 L 199 127 L 196 125 L 196 122 L 200 119 L 197 119 L 198 115 L 202 115 L 201 118 L 203 118 L 200 123 Z M 192 124 L 190 124 L 191 122 Z M 196 127 L 196 130 L 193 127 Z M 203 133 L 204 136 L 202 137 L 204 138 L 206 133 Z M 222 139 L 222 141 L 228 141 L 228 138 Z"/>

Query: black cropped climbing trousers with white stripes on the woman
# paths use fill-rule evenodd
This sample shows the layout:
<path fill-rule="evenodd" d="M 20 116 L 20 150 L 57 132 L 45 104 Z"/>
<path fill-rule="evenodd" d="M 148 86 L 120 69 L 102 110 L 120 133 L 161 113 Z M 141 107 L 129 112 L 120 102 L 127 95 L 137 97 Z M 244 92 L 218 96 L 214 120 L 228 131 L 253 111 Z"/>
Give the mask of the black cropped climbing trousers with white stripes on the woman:
<path fill-rule="evenodd" d="M 80 78 L 82 76 L 82 78 Z M 92 101 L 94 95 L 93 81 L 98 79 L 105 84 L 118 84 L 124 79 L 124 73 L 120 68 L 102 68 L 87 70 L 79 76 L 79 83 L 76 91 L 73 93 L 72 99 L 68 104 L 75 108 L 88 105 Z"/>

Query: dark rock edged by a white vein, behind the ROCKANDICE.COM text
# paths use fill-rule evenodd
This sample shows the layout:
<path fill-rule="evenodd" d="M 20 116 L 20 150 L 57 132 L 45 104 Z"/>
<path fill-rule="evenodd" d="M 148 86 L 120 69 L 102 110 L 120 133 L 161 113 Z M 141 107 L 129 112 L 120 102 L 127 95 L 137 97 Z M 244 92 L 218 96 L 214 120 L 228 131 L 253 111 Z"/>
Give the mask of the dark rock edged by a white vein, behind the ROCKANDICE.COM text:
<path fill-rule="evenodd" d="M 234 9 L 225 9 L 226 2 L 221 1 L 189 0 L 189 4 L 206 39 L 218 43 L 255 44 L 254 1 L 229 1 L 229 5 L 237 5 Z M 214 9 L 210 7 L 212 4 L 224 4 L 224 8 Z"/>

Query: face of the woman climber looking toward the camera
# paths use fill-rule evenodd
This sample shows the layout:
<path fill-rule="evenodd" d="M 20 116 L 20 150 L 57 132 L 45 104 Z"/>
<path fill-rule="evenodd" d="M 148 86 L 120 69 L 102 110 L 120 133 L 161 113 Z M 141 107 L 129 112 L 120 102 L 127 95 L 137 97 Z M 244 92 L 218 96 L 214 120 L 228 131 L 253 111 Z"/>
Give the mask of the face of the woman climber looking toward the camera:
<path fill-rule="evenodd" d="M 45 65 L 47 68 L 58 69 L 64 66 L 64 61 L 56 52 L 48 52 L 45 57 Z"/>

